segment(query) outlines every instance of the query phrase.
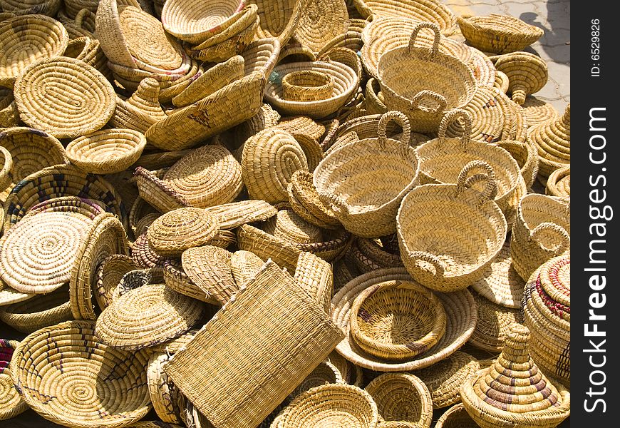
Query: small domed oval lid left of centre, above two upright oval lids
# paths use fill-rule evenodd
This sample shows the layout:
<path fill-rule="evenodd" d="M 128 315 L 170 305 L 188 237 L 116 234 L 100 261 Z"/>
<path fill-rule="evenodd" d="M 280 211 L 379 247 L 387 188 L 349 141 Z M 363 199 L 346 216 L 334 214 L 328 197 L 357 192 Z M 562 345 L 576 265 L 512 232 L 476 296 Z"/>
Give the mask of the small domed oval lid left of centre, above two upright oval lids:
<path fill-rule="evenodd" d="M 157 218 L 146 236 L 155 253 L 181 255 L 187 248 L 209 243 L 218 230 L 215 215 L 202 208 L 179 208 Z"/>

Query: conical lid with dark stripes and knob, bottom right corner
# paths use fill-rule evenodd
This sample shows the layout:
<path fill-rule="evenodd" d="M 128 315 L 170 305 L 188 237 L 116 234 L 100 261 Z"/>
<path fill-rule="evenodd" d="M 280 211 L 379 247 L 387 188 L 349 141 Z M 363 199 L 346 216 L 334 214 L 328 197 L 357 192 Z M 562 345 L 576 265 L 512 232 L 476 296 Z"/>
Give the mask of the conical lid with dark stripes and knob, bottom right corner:
<path fill-rule="evenodd" d="M 530 357 L 528 342 L 525 325 L 510 326 L 500 357 L 472 385 L 478 398 L 511 413 L 549 409 L 559 402 L 557 388 Z"/>

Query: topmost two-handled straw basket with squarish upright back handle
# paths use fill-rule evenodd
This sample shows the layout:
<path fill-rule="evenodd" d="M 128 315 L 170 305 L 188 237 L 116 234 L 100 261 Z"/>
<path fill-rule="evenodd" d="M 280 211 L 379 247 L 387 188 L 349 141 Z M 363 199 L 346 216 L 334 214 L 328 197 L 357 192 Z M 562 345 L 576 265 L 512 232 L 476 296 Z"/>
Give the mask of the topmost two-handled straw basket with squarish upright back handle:
<path fill-rule="evenodd" d="M 415 47 L 421 29 L 435 32 L 430 49 Z M 418 24 L 407 47 L 386 52 L 378 63 L 386 106 L 406 113 L 414 131 L 436 131 L 445 111 L 465 106 L 476 90 L 471 68 L 460 59 L 441 53 L 439 42 L 437 26 Z"/>

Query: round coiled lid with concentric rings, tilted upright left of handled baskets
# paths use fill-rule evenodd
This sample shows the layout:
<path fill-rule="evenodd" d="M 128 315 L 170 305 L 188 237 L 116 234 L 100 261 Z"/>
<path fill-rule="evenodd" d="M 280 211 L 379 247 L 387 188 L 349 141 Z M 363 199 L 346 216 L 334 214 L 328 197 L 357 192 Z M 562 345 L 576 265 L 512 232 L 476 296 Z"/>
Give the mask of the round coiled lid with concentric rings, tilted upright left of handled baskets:
<path fill-rule="evenodd" d="M 308 170 L 306 155 L 295 138 L 274 128 L 261 131 L 244 143 L 241 163 L 250 198 L 268 203 L 288 200 L 286 186 L 291 175 L 296 170 Z"/>

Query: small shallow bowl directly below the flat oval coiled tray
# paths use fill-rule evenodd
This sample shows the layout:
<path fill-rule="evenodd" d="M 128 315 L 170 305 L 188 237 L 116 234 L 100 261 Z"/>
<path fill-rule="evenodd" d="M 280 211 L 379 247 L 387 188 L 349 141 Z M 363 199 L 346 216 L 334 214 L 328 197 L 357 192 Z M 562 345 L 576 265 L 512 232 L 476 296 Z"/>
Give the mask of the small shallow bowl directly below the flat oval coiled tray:
<path fill-rule="evenodd" d="M 143 133 L 132 129 L 113 128 L 95 131 L 71 141 L 67 157 L 87 173 L 120 173 L 138 161 L 146 147 Z"/>

